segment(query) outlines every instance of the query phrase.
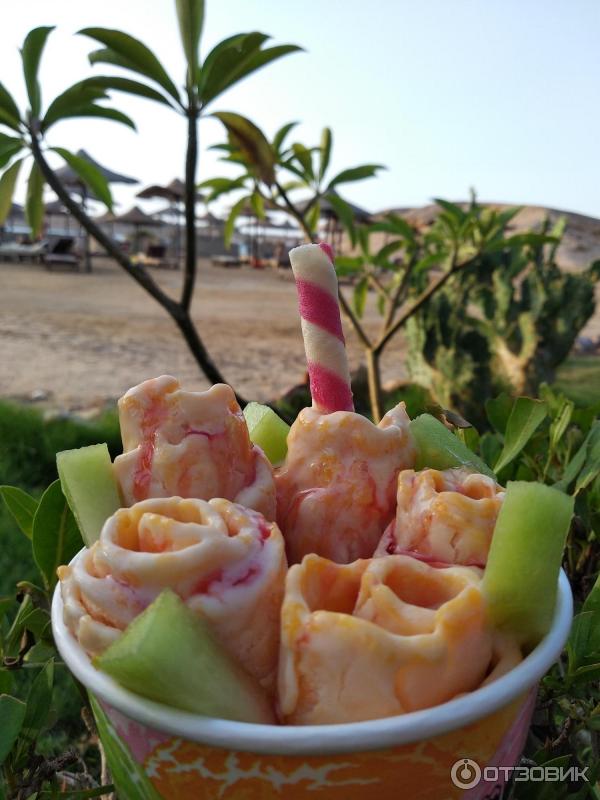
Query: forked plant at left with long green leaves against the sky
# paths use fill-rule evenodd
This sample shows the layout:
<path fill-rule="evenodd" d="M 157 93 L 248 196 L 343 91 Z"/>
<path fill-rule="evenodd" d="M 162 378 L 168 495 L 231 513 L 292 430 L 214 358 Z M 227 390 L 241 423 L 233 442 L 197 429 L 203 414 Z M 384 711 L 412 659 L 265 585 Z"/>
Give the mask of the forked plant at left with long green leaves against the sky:
<path fill-rule="evenodd" d="M 21 50 L 23 76 L 29 108 L 21 112 L 12 95 L 0 84 L 0 224 L 6 219 L 17 177 L 28 157 L 33 156 L 29 172 L 26 215 L 34 236 L 43 223 L 43 192 L 48 184 L 81 226 L 96 239 L 106 253 L 156 300 L 179 328 L 190 352 L 211 383 L 224 378 L 210 357 L 191 316 L 191 303 L 196 285 L 196 171 L 198 163 L 198 123 L 211 104 L 229 88 L 261 67 L 300 48 L 296 45 L 265 47 L 269 37 L 252 31 L 224 39 L 204 58 L 200 56 L 200 39 L 204 20 L 204 0 L 176 0 L 175 3 L 187 71 L 179 86 L 171 78 L 158 57 L 143 42 L 122 31 L 91 27 L 81 35 L 101 45 L 90 53 L 92 65 L 109 64 L 133 73 L 130 77 L 100 75 L 68 87 L 43 110 L 39 80 L 40 63 L 51 27 L 35 28 L 28 33 Z M 141 78 L 141 80 L 139 80 Z M 133 264 L 117 244 L 94 222 L 61 183 L 47 161 L 47 152 L 57 153 L 78 174 L 91 192 L 109 208 L 110 188 L 93 165 L 62 147 L 47 143 L 50 129 L 65 119 L 94 117 L 135 128 L 122 111 L 103 105 L 109 93 L 121 92 L 145 98 L 167 107 L 182 116 L 187 125 L 185 158 L 185 223 L 186 258 L 181 294 L 178 300 L 167 294 L 142 265 Z"/>

